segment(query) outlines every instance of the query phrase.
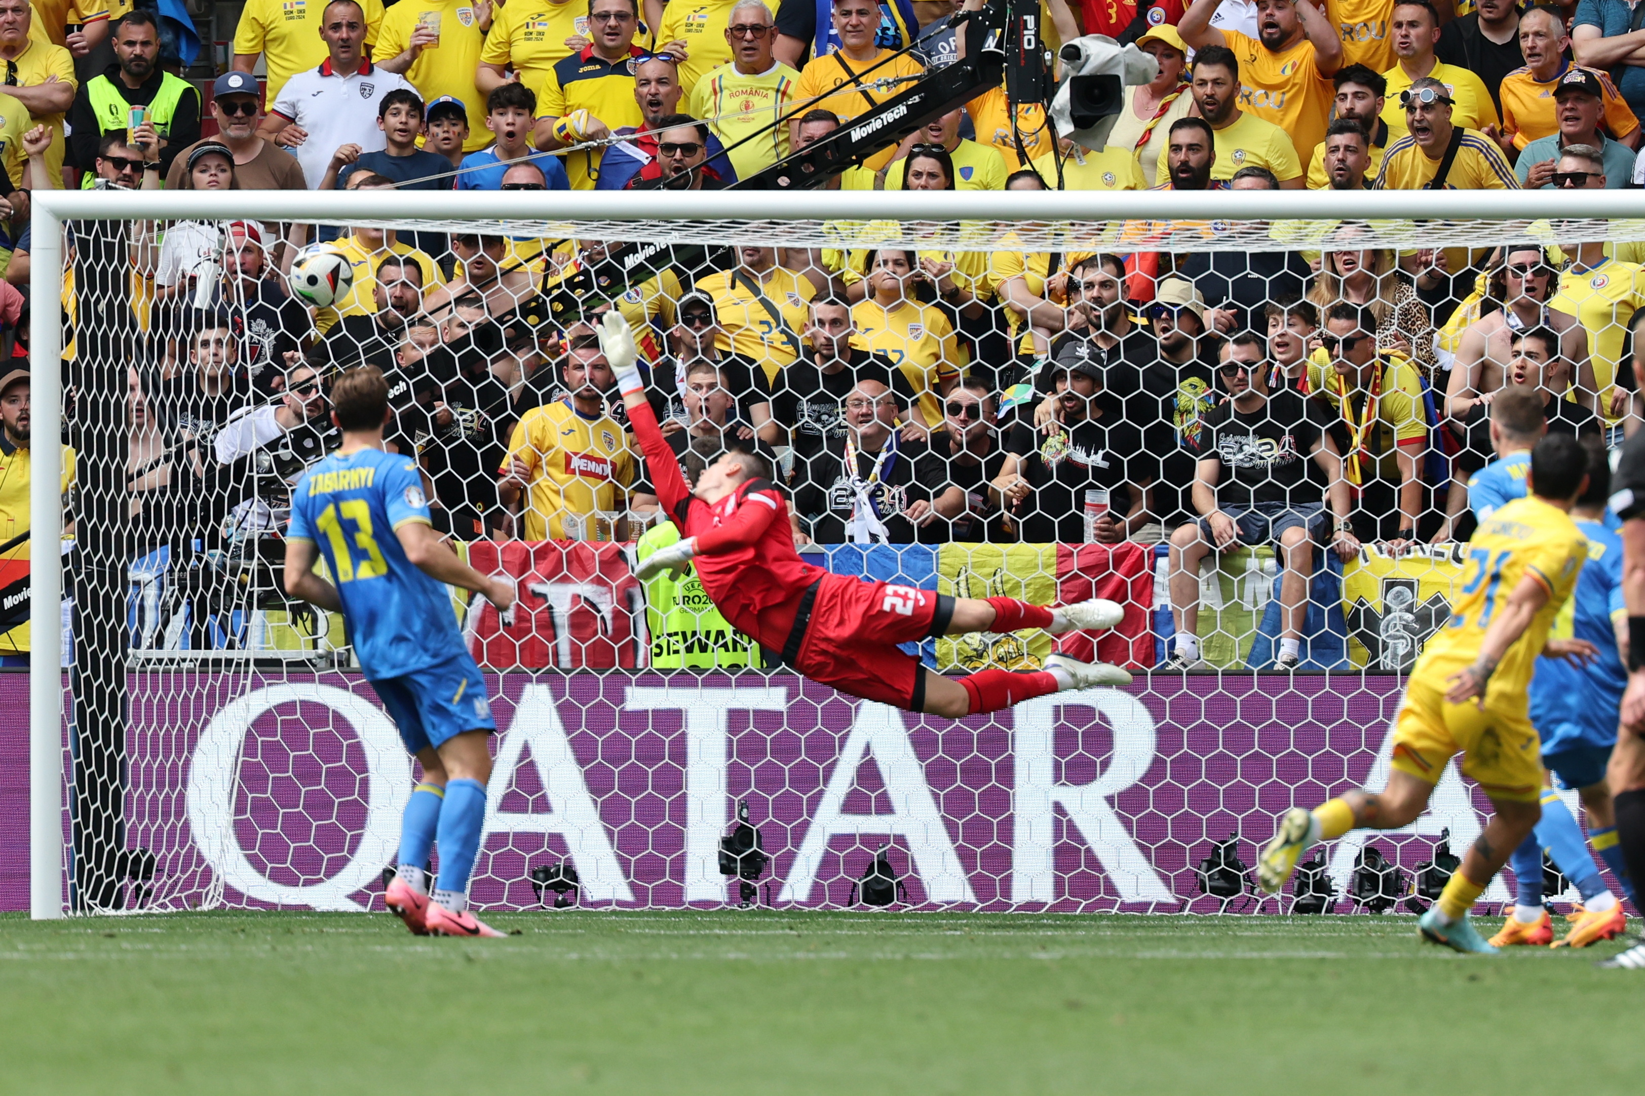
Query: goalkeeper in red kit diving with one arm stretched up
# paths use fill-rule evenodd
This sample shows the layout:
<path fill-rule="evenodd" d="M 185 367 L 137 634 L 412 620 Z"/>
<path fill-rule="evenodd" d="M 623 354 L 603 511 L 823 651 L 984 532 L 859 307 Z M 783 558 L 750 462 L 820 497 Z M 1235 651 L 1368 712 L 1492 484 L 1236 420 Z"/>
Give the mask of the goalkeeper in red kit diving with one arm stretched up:
<path fill-rule="evenodd" d="M 704 592 L 734 629 L 780 652 L 813 681 L 906 711 L 959 719 L 1048 693 L 1130 683 L 1119 666 L 1066 655 L 1025 673 L 990 668 L 944 678 L 924 668 L 898 643 L 966 632 L 1102 630 L 1115 627 L 1125 611 L 1102 599 L 1048 609 L 1015 597 L 949 597 L 806 563 L 795 550 L 788 502 L 752 443 L 744 448 L 732 439 L 697 477 L 696 490 L 688 487 L 645 398 L 628 321 L 610 311 L 599 336 L 656 497 L 681 535 L 640 563 L 640 579 L 696 566 Z"/>

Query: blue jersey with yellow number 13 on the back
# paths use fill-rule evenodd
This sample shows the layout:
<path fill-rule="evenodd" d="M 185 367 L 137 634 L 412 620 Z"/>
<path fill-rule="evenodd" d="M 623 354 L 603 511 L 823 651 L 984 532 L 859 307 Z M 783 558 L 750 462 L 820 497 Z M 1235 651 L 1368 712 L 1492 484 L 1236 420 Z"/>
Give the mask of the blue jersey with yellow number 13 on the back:
<path fill-rule="evenodd" d="M 429 523 L 416 462 L 382 449 L 334 453 L 291 492 L 291 540 L 319 545 L 360 668 L 398 678 L 464 653 L 446 584 L 423 574 L 395 530 Z"/>

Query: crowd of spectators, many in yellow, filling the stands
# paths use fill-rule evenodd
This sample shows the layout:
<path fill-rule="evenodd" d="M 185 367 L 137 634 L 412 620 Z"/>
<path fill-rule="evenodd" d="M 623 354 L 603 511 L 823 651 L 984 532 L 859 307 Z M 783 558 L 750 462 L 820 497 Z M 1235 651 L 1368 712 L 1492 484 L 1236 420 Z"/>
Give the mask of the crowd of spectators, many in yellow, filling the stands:
<path fill-rule="evenodd" d="M 897 89 L 962 56 L 961 7 L 982 2 L 334 0 L 291 18 L 252 0 L 202 105 L 156 64 L 148 12 L 114 20 L 107 71 L 77 82 L 76 33 L 53 44 L 64 26 L 0 0 L 5 293 L 26 288 L 36 188 L 104 188 L 115 209 L 161 186 L 725 188 L 872 110 L 888 91 L 854 84 L 869 67 Z M 1051 48 L 1107 33 L 1158 63 L 1102 151 L 990 87 L 829 186 L 1645 184 L 1625 0 L 1046 0 L 1045 20 Z M 632 538 L 658 507 L 595 337 L 619 308 L 683 466 L 729 439 L 768 449 L 796 541 L 1168 543 L 1193 634 L 1211 551 L 1272 543 L 1301 614 L 1321 553 L 1466 538 L 1471 474 L 1510 426 L 1543 430 L 1494 423 L 1504 390 L 1533 392 L 1546 430 L 1615 444 L 1640 421 L 1637 245 L 1395 252 L 1346 224 L 1319 250 L 1184 253 L 1153 230 L 1069 253 L 711 248 L 556 319 L 556 291 L 615 244 L 141 225 L 133 515 L 176 550 L 278 530 L 281 485 L 336 443 L 329 378 L 372 362 L 390 443 L 454 536 Z M 314 242 L 354 270 L 327 308 L 281 276 Z"/>

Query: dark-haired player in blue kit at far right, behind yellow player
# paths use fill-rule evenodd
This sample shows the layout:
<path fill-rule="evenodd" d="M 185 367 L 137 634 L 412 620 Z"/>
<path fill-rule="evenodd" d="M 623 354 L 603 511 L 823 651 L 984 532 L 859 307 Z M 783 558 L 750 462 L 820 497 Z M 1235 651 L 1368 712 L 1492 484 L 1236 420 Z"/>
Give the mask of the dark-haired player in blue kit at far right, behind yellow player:
<path fill-rule="evenodd" d="M 1606 499 L 1610 495 L 1610 462 L 1604 444 L 1597 439 L 1584 443 L 1589 449 L 1589 487 L 1571 509 L 1571 518 L 1587 538 L 1587 564 L 1576 581 L 1576 591 L 1564 612 L 1555 622 L 1556 639 L 1581 639 L 1594 645 L 1597 655 L 1582 666 L 1561 658 L 1538 658 L 1536 676 L 1531 678 L 1531 726 L 1541 737 L 1541 757 L 1559 783 L 1576 788 L 1587 813 L 1587 834 L 1594 851 L 1606 861 L 1612 874 L 1638 903 L 1617 846 L 1615 816 L 1610 790 L 1606 785 L 1606 765 L 1617 744 L 1617 721 L 1622 708 L 1622 691 L 1629 675 L 1624 670 L 1622 650 L 1627 645 L 1627 609 L 1622 604 L 1622 538 L 1606 528 Z M 1543 788 L 1543 816 L 1550 811 L 1569 815 L 1551 788 Z M 1574 820 L 1573 820 L 1574 821 Z M 1622 903 L 1604 887 L 1592 859 L 1578 861 L 1581 879 L 1573 882 L 1582 894 L 1582 910 L 1574 913 L 1569 931 L 1553 940 L 1553 925 L 1543 910 L 1540 829 L 1530 841 L 1513 851 L 1508 862 L 1513 867 L 1517 897 L 1513 913 L 1507 918 L 1490 943 L 1548 945 L 1555 948 L 1586 948 L 1597 940 L 1612 940 L 1627 926 Z M 1553 834 L 1571 844 L 1574 834 Z M 1576 846 L 1578 849 L 1581 846 Z M 1566 871 L 1561 866 L 1561 871 Z"/>

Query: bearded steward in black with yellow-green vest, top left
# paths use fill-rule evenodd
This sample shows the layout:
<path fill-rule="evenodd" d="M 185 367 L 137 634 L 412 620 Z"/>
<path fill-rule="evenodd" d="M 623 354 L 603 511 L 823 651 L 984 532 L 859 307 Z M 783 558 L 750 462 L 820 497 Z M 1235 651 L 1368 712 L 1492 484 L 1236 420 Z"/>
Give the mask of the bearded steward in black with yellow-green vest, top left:
<path fill-rule="evenodd" d="M 164 178 L 178 151 L 201 138 L 201 94 L 194 84 L 160 67 L 160 35 L 155 18 L 133 10 L 114 26 L 115 64 L 81 84 L 69 107 L 69 148 L 64 161 L 82 173 L 81 186 L 95 183 L 97 145 L 110 130 L 132 123 L 132 107 L 145 107 L 148 122 L 164 142 L 160 174 Z M 252 92 L 255 77 L 240 74 Z"/>

